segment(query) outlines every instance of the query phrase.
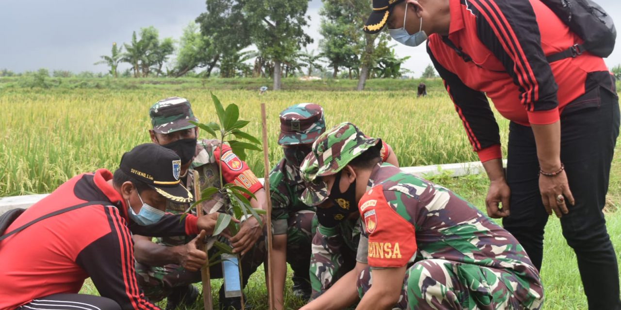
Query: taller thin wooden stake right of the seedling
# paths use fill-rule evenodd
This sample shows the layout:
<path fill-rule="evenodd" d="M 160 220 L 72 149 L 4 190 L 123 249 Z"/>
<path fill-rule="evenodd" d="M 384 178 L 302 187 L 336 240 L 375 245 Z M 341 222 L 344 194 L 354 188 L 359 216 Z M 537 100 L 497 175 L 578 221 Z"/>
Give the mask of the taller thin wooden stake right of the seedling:
<path fill-rule="evenodd" d="M 272 234 L 271 234 L 271 199 L 270 199 L 270 161 L 268 160 L 268 126 L 265 117 L 265 104 L 261 104 L 261 126 L 263 127 L 263 164 L 265 168 L 265 179 L 263 179 L 263 188 L 265 188 L 265 205 L 268 208 L 267 224 L 268 229 L 268 294 L 270 301 L 270 310 L 274 309 L 274 277 L 272 277 Z"/>

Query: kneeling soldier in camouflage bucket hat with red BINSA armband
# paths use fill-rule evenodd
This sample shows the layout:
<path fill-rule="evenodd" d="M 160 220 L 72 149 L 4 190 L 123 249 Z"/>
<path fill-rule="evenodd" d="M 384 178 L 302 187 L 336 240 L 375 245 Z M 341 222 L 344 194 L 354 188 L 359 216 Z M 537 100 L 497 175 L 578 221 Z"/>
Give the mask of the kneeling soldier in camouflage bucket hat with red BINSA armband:
<path fill-rule="evenodd" d="M 380 143 L 342 123 L 302 162 L 302 200 L 357 205 L 368 235 L 356 269 L 302 309 L 358 298 L 356 309 L 540 309 L 542 283 L 517 240 L 450 190 L 379 164 Z"/>

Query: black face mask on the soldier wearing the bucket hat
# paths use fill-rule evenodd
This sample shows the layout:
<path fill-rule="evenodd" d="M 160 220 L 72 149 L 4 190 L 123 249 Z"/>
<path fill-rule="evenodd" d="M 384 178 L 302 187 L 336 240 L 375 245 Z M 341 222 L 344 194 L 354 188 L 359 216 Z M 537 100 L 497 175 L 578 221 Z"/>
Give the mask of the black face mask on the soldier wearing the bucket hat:
<path fill-rule="evenodd" d="M 345 193 L 341 193 L 339 184 L 341 181 L 341 175 L 343 172 L 337 175 L 334 179 L 334 185 L 328 200 L 334 203 L 330 208 L 317 207 L 317 220 L 325 227 L 334 227 L 338 223 L 348 218 L 351 213 L 358 211 L 358 205 L 356 203 L 356 180 L 354 180 L 350 186 L 345 190 Z"/>

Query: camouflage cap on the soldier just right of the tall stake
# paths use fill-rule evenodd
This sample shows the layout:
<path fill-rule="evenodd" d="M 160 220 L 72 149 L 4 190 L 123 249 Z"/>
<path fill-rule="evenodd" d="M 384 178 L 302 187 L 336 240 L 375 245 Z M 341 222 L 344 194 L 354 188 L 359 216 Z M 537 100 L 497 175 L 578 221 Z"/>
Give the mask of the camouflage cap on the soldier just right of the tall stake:
<path fill-rule="evenodd" d="M 280 112 L 279 145 L 311 144 L 324 131 L 324 108 L 318 104 L 296 104 Z"/>

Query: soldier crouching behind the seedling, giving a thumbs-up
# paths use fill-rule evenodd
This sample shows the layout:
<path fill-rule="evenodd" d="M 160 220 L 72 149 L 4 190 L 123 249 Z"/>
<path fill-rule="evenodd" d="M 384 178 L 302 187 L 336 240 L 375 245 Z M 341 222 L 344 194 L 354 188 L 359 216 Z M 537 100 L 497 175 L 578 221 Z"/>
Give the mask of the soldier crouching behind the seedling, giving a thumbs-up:
<path fill-rule="evenodd" d="M 233 154 L 230 146 L 220 146 L 215 139 L 198 139 L 198 128 L 190 121 L 198 122 L 187 99 L 170 97 L 160 100 L 150 108 L 152 129 L 149 130 L 153 143 L 175 151 L 181 157 L 181 182 L 194 192 L 194 182 L 200 182 L 201 189 L 220 187 L 220 167 L 225 183 L 233 183 L 247 188 L 256 198 L 250 200 L 253 208 L 263 209 L 265 190 L 248 169 L 248 165 Z M 222 159 L 220 159 L 222 158 Z M 194 180 L 193 171 L 199 173 L 199 180 Z M 224 212 L 225 205 L 214 197 L 202 203 L 207 214 L 212 209 Z M 249 197 L 248 197 L 249 198 Z M 189 210 L 194 202 L 181 203 L 170 201 L 166 204 L 166 212 L 181 214 Z M 227 202 L 228 203 L 228 202 Z M 196 210 L 191 209 L 194 214 Z M 264 216 L 265 217 L 265 216 Z M 262 221 L 265 223 L 265 219 Z M 224 237 L 217 237 L 227 242 Z M 194 303 L 198 291 L 192 283 L 201 281 L 199 267 L 205 260 L 191 250 L 192 237 L 163 237 L 152 241 L 150 235 L 134 235 L 136 255 L 136 272 L 138 283 L 145 295 L 154 301 L 168 298 L 166 309 L 178 306 L 189 306 Z M 263 227 L 255 218 L 243 221 L 240 231 L 230 239 L 233 249 L 242 254 L 242 287 L 256 268 L 265 258 L 265 237 Z M 217 249 L 212 248 L 209 257 L 214 257 Z M 221 264 L 211 268 L 211 278 L 222 278 Z M 224 286 L 220 288 L 220 306 L 241 309 L 240 298 L 225 298 Z"/>

